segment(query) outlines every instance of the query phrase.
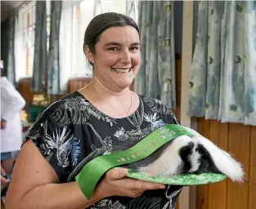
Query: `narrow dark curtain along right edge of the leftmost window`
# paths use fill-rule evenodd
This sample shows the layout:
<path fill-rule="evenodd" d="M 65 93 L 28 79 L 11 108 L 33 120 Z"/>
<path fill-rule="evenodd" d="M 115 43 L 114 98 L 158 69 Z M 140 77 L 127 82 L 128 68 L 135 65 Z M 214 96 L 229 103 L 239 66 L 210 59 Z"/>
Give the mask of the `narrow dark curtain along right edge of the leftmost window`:
<path fill-rule="evenodd" d="M 35 92 L 46 90 L 47 78 L 47 10 L 46 1 L 36 1 L 34 32 L 34 65 L 31 89 Z"/>

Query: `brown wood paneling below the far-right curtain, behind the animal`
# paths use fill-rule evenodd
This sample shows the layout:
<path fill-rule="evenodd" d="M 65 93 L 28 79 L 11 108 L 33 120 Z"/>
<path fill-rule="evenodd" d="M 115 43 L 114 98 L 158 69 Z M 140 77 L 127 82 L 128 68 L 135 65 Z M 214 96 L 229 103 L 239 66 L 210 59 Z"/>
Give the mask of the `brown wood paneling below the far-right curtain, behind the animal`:
<path fill-rule="evenodd" d="M 256 127 L 198 118 L 198 131 L 240 161 L 245 183 L 223 180 L 197 188 L 196 209 L 256 208 Z"/>

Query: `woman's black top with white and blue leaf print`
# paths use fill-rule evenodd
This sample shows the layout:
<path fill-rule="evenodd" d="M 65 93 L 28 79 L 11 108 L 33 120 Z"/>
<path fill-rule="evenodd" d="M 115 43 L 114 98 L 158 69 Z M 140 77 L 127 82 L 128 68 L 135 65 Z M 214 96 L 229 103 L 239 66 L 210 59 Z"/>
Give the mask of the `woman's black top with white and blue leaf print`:
<path fill-rule="evenodd" d="M 56 171 L 60 183 L 74 181 L 82 167 L 104 153 L 128 149 L 164 124 L 177 124 L 171 109 L 159 100 L 140 96 L 135 113 L 111 118 L 93 106 L 78 91 L 51 104 L 31 127 L 25 140 L 32 139 Z M 143 163 L 147 164 L 154 154 Z M 180 186 L 150 190 L 138 198 L 110 197 L 91 209 L 175 208 Z"/>

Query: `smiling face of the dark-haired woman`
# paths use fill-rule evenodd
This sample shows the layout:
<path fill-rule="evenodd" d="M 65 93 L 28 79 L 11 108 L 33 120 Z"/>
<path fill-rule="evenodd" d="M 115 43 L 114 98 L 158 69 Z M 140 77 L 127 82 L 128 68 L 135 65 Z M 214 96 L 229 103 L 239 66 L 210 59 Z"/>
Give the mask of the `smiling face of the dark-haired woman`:
<path fill-rule="evenodd" d="M 132 26 L 106 29 L 91 53 L 97 78 L 111 90 L 129 87 L 141 62 L 140 38 Z"/>

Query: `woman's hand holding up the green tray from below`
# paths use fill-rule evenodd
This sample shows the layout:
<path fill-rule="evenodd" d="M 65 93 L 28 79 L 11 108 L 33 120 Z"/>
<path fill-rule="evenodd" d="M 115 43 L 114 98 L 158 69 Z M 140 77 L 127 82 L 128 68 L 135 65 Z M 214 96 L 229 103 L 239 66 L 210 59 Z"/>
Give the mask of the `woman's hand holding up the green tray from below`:
<path fill-rule="evenodd" d="M 107 171 L 106 176 L 96 188 L 97 196 L 101 199 L 110 196 L 137 198 L 146 190 L 165 188 L 162 184 L 127 178 L 125 177 L 127 172 L 126 168 Z"/>

